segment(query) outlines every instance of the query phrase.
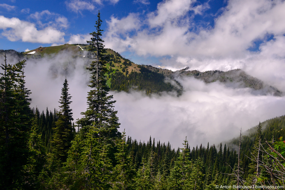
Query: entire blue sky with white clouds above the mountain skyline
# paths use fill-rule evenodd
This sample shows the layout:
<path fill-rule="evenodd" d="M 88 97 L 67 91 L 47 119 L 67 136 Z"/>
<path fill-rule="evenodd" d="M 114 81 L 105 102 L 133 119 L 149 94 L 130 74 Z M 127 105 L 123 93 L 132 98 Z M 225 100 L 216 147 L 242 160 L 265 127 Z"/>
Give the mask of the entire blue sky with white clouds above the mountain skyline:
<path fill-rule="evenodd" d="M 86 43 L 100 10 L 105 47 L 169 69 L 246 69 L 249 59 L 276 58 L 285 33 L 281 0 L 0 2 L 0 49 Z"/>

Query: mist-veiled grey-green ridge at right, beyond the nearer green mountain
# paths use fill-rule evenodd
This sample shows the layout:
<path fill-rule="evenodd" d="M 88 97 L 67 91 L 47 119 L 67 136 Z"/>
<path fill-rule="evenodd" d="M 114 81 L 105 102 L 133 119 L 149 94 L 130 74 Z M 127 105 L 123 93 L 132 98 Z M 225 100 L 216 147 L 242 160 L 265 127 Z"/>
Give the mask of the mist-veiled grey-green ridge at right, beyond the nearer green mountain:
<path fill-rule="evenodd" d="M 267 85 L 255 77 L 247 75 L 246 72 L 241 69 L 234 69 L 227 72 L 219 70 L 200 72 L 197 70 L 186 71 L 188 68 L 186 67 L 185 69 L 176 71 L 173 75 L 181 77 L 192 76 L 203 80 L 205 83 L 220 81 L 221 83 L 226 83 L 235 88 L 253 88 L 254 90 L 257 90 L 257 94 L 261 95 L 272 94 L 274 96 L 282 96 L 282 92 L 277 88 Z"/>

